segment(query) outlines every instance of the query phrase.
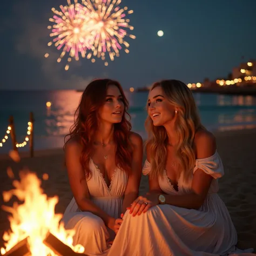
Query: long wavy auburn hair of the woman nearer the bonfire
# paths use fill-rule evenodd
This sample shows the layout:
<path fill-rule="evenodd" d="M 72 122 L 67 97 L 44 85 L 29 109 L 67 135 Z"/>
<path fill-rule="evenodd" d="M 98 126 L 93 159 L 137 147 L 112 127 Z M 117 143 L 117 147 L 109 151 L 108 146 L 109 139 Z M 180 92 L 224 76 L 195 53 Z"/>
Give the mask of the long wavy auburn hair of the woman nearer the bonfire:
<path fill-rule="evenodd" d="M 127 112 L 129 103 L 124 95 L 122 86 L 117 81 L 111 79 L 96 79 L 87 85 L 84 90 L 75 112 L 75 122 L 70 127 L 70 133 L 66 135 L 64 139 L 64 150 L 69 140 L 74 137 L 77 137 L 82 144 L 83 150 L 80 156 L 80 163 L 85 170 L 86 178 L 90 178 L 91 176 L 89 164 L 93 141 L 100 123 L 98 112 L 106 101 L 107 87 L 109 85 L 118 87 L 124 102 L 122 122 L 113 124 L 113 140 L 116 145 L 116 165 L 120 166 L 120 168 L 128 174 L 131 172 L 132 149 L 129 140 L 131 123 L 126 119 L 126 117 L 130 119 L 130 114 Z"/>

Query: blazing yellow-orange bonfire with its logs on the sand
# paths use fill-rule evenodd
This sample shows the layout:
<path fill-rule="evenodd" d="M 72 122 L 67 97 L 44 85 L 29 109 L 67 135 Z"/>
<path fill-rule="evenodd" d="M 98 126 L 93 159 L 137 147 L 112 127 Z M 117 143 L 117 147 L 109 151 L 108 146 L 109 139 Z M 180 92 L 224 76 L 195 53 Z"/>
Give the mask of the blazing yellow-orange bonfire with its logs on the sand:
<path fill-rule="evenodd" d="M 12 171 L 8 175 L 13 178 Z M 84 247 L 73 246 L 75 231 L 65 230 L 60 221 L 62 214 L 55 214 L 55 206 L 58 197 L 48 198 L 41 188 L 41 180 L 35 173 L 23 170 L 19 173 L 20 181 L 14 180 L 14 189 L 3 192 L 3 199 L 8 202 L 16 196 L 17 201 L 12 207 L 2 206 L 9 215 L 10 231 L 5 232 L 3 240 L 4 248 L 1 254 L 9 255 L 81 255 Z M 84 254 L 83 254 L 84 255 Z"/>

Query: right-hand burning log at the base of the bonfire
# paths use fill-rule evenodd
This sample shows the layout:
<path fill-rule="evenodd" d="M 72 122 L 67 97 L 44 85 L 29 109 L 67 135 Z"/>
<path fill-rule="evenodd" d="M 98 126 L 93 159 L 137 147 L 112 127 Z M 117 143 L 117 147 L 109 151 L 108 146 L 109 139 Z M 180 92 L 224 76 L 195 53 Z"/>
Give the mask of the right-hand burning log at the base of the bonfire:
<path fill-rule="evenodd" d="M 55 254 L 59 256 L 86 256 L 86 254 L 81 254 L 74 252 L 72 248 L 68 245 L 65 245 L 62 241 L 60 241 L 55 235 L 50 232 L 46 235 L 44 239 L 44 244 L 48 246 Z"/>

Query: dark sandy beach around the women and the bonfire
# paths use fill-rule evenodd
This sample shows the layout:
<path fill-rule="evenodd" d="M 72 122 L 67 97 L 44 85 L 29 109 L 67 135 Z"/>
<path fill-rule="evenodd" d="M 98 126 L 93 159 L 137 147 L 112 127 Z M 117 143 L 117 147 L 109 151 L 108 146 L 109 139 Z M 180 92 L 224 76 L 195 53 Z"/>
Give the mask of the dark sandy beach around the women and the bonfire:
<path fill-rule="evenodd" d="M 225 176 L 219 180 L 219 195 L 230 211 L 238 232 L 238 247 L 256 249 L 256 130 L 229 131 L 214 133 L 217 138 L 218 152 L 225 167 Z M 26 166 L 36 172 L 39 178 L 49 174 L 48 180 L 42 181 L 45 193 L 51 197 L 58 195 L 57 213 L 63 213 L 72 193 L 64 167 L 62 149 L 37 151 L 34 158 L 21 154 L 20 163 L 15 163 L 8 156 L 0 156 L 0 204 L 3 205 L 2 192 L 12 188 L 12 180 L 6 170 L 11 167 L 15 177 Z M 145 157 L 144 157 L 145 158 Z M 147 192 L 147 177 L 142 177 L 140 194 Z M 0 247 L 3 246 L 3 232 L 8 230 L 8 214 L 0 212 Z"/>

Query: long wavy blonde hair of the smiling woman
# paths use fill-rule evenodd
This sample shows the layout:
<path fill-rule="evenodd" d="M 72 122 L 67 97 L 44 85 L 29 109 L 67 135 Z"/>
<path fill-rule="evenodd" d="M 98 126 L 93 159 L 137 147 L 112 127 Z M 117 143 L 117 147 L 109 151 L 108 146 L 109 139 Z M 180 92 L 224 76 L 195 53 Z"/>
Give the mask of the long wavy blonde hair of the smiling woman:
<path fill-rule="evenodd" d="M 192 174 L 196 156 L 193 142 L 196 131 L 204 126 L 201 124 L 196 102 L 188 87 L 179 80 L 162 80 L 154 83 L 151 91 L 160 86 L 169 102 L 178 109 L 174 132 L 178 137 L 178 144 L 174 146 L 179 166 L 179 175 L 183 172 L 185 181 Z M 148 106 L 147 106 L 148 109 Z M 168 137 L 164 126 L 154 126 L 150 116 L 147 116 L 145 127 L 149 138 L 146 149 L 149 153 L 151 172 L 150 178 L 163 176 L 167 160 Z"/>

